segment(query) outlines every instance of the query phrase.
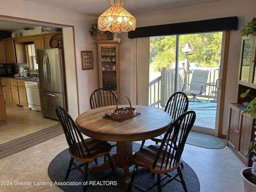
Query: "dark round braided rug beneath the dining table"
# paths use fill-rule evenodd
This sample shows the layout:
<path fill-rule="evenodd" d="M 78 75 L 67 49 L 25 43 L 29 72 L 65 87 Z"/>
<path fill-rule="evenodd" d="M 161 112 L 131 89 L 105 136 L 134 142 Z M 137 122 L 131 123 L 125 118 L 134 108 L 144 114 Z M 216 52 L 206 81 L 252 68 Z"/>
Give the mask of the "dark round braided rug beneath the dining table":
<path fill-rule="evenodd" d="M 111 143 L 111 142 L 110 142 Z M 136 152 L 140 149 L 140 144 L 133 142 L 133 151 Z M 110 154 L 116 153 L 116 147 L 113 147 Z M 70 172 L 68 180 L 64 180 L 66 176 L 66 170 L 68 168 L 70 160 L 70 154 L 68 153 L 68 149 L 63 150 L 60 152 L 50 163 L 48 167 L 48 174 L 50 179 L 58 185 L 59 188 L 64 190 L 65 192 L 82 192 L 82 184 L 83 182 L 83 174 L 79 172 L 77 169 Z M 80 164 L 79 162 L 75 163 Z M 104 158 L 98 158 L 98 164 L 101 164 L 104 162 Z M 92 167 L 94 162 L 91 162 L 89 164 L 89 169 Z M 200 183 L 198 180 L 198 177 L 194 170 L 186 164 L 186 162 L 183 162 L 184 168 L 181 168 L 182 174 L 184 177 L 184 180 L 186 182 L 186 187 L 188 189 L 188 192 L 199 192 L 200 191 Z M 130 167 L 130 175 L 132 175 L 132 171 L 134 169 L 134 166 Z M 87 188 L 87 192 L 125 192 L 125 182 L 124 182 L 124 176 L 123 176 L 123 170 L 115 167 L 115 170 L 117 172 L 117 176 L 119 179 L 118 183 L 115 183 L 114 176 L 110 176 L 106 179 L 104 179 L 102 182 L 94 183 L 92 186 Z M 103 177 L 108 174 L 110 174 L 112 171 L 107 170 L 104 172 L 99 172 L 97 176 Z M 176 170 L 171 172 L 173 174 L 176 174 Z M 96 181 L 97 178 L 93 174 L 88 174 L 88 183 Z M 61 183 L 62 182 L 62 183 Z M 80 183 L 79 183 L 80 182 Z M 151 172 L 148 171 L 146 168 L 139 167 L 138 172 L 136 174 L 136 178 L 134 180 L 134 184 L 142 187 L 142 188 L 148 188 L 150 184 L 156 182 L 156 176 L 152 176 Z M 133 192 L 138 192 L 136 188 L 132 188 Z M 150 190 L 152 192 L 157 191 L 157 187 Z M 173 180 L 169 184 L 167 184 L 163 188 L 163 192 L 182 192 L 184 191 L 182 184 L 176 180 Z"/>

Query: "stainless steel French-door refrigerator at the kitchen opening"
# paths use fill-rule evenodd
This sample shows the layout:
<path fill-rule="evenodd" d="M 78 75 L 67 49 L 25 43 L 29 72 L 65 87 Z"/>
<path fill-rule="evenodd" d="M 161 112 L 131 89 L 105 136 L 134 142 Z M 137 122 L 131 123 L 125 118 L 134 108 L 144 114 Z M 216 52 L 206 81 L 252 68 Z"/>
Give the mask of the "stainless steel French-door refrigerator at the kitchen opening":
<path fill-rule="evenodd" d="M 62 49 L 37 49 L 41 108 L 44 118 L 58 119 L 55 106 L 67 109 L 66 80 Z"/>

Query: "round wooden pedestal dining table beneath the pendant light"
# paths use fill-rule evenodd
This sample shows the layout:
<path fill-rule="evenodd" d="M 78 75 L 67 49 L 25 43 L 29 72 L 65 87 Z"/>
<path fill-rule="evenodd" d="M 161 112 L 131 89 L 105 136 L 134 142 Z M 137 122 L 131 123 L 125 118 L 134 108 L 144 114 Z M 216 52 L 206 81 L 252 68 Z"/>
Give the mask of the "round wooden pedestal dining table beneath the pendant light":
<path fill-rule="evenodd" d="M 105 114 L 110 114 L 115 106 L 88 110 L 76 118 L 76 124 L 86 136 L 99 140 L 116 141 L 116 154 L 111 158 L 114 166 L 124 170 L 126 189 L 130 182 L 129 167 L 135 164 L 132 142 L 159 136 L 166 132 L 172 123 L 171 116 L 163 110 L 148 106 L 132 107 L 141 114 L 124 122 L 102 118 Z M 108 169 L 110 169 L 108 161 L 92 166 L 92 171 L 96 173 Z"/>

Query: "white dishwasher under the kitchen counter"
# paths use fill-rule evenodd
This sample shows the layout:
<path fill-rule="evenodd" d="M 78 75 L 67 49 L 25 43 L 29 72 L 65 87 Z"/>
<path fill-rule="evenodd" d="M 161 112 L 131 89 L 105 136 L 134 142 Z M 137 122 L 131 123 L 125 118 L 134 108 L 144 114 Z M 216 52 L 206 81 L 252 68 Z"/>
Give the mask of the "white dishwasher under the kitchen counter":
<path fill-rule="evenodd" d="M 38 89 L 38 82 L 25 82 L 27 98 L 28 98 L 28 107 L 32 110 L 42 111 L 40 103 L 40 94 Z"/>

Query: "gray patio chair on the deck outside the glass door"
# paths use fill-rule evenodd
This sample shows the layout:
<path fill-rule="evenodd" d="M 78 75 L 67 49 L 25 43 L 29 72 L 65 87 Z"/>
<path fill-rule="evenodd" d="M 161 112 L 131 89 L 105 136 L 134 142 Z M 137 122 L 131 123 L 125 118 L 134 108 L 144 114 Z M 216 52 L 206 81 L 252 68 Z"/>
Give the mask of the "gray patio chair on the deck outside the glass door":
<path fill-rule="evenodd" d="M 194 102 L 194 100 L 196 99 L 195 102 L 201 102 L 200 100 L 198 100 L 198 98 L 196 98 L 196 95 L 202 95 L 205 92 L 208 73 L 209 71 L 194 70 L 192 73 L 190 84 L 183 84 L 182 92 L 186 94 L 191 94 L 193 96 L 189 101 L 192 100 L 192 102 Z M 184 90 L 186 85 L 189 86 L 188 90 Z"/>

